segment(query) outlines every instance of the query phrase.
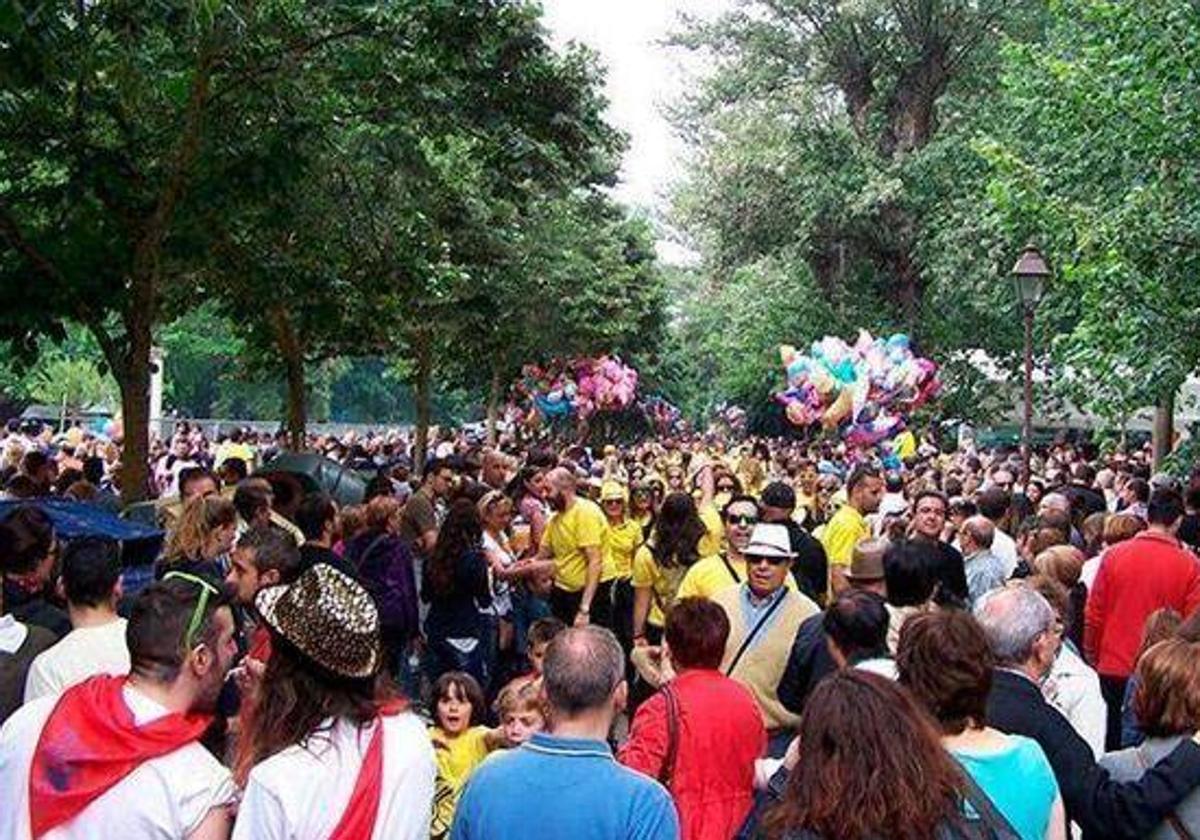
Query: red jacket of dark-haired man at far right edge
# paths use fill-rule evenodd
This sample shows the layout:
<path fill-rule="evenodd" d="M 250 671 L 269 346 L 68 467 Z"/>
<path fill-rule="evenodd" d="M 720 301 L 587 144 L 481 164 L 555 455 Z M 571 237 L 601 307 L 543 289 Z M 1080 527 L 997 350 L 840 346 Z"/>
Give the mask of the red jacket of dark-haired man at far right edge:
<path fill-rule="evenodd" d="M 1084 649 L 1097 672 L 1128 677 L 1146 618 L 1200 606 L 1200 563 L 1168 534 L 1144 530 L 1104 554 L 1084 612 Z"/>

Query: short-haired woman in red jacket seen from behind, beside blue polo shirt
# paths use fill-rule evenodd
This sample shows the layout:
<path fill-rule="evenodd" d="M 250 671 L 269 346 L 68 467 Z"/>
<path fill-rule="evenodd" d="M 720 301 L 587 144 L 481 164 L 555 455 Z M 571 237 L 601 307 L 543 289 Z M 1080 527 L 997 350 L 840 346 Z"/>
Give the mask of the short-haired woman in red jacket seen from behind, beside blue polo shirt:
<path fill-rule="evenodd" d="M 750 692 L 718 668 L 730 622 L 702 598 L 667 613 L 662 660 L 674 679 L 638 707 L 618 758 L 671 791 L 683 840 L 728 840 L 754 804 L 755 760 L 767 749 Z"/>

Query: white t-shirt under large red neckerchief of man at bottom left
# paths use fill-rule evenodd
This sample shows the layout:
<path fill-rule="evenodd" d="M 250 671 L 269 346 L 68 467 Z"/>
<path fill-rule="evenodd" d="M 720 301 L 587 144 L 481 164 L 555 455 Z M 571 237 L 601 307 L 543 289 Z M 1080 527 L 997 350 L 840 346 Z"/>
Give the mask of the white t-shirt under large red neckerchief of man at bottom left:
<path fill-rule="evenodd" d="M 130 686 L 124 697 L 140 726 L 167 709 Z M 29 772 L 46 720 L 58 697 L 17 709 L 0 728 L 0 838 L 30 840 Z M 234 800 L 229 770 L 193 742 L 140 764 L 94 799 L 71 822 L 43 840 L 179 840 L 196 830 L 214 808 Z"/>

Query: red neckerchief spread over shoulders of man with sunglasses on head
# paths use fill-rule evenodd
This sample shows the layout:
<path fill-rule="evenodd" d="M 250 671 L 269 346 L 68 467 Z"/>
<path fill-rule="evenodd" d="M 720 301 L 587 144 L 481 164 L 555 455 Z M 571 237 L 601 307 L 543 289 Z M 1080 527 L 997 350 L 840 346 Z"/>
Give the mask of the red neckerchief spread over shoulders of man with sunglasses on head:
<path fill-rule="evenodd" d="M 192 743 L 211 715 L 172 713 L 138 726 L 125 677 L 98 676 L 62 692 L 37 739 L 29 774 L 34 838 L 70 822 L 144 762 Z"/>

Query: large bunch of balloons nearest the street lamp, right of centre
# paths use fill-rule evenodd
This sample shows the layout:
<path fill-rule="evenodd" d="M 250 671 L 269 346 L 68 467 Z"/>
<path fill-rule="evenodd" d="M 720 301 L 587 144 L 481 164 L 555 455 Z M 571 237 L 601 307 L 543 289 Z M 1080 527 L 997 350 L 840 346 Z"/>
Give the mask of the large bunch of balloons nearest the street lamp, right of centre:
<path fill-rule="evenodd" d="M 874 446 L 904 431 L 918 407 L 937 395 L 937 365 L 912 352 L 908 336 L 875 338 L 859 330 L 853 344 L 833 336 L 808 354 L 780 347 L 787 390 L 775 395 L 796 426 L 820 422 L 851 446 Z"/>

